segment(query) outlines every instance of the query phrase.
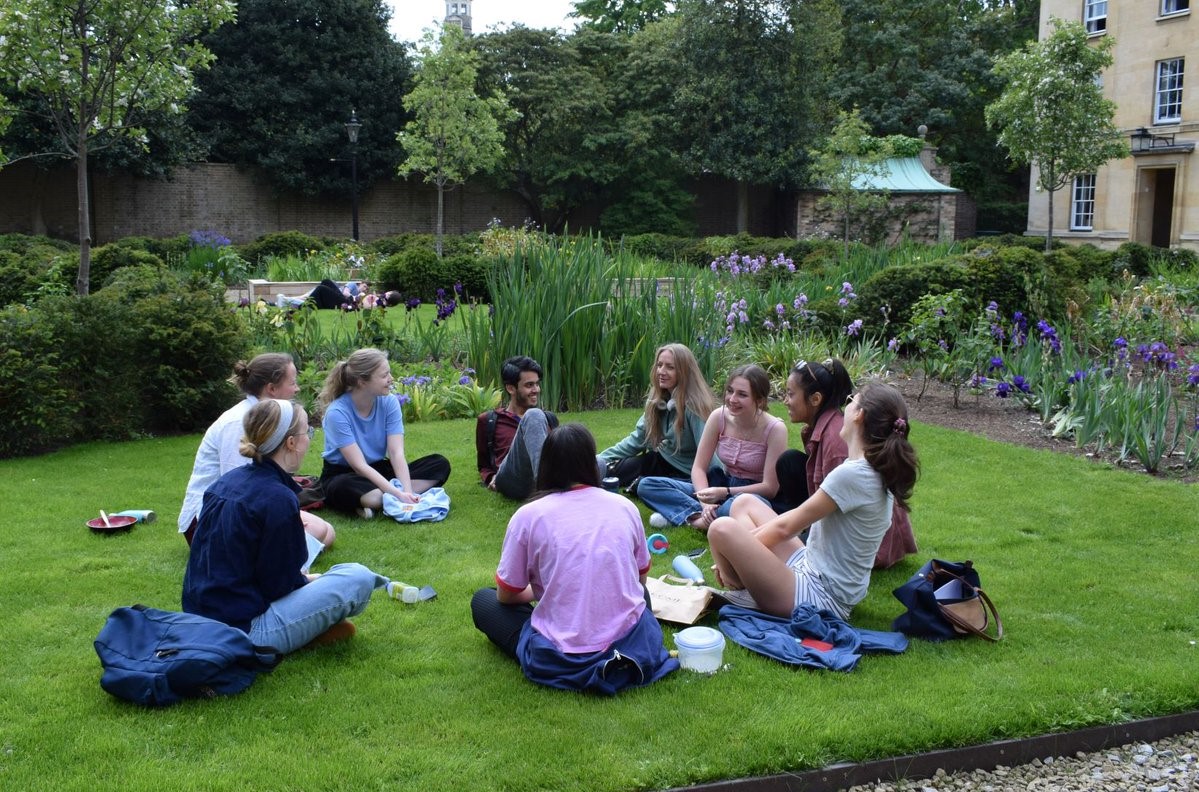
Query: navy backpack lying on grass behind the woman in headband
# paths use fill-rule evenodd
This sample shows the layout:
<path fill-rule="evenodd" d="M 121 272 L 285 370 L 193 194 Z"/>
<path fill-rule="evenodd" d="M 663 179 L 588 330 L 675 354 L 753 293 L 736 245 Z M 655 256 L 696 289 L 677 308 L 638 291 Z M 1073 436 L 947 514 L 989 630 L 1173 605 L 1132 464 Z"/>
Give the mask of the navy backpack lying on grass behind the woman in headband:
<path fill-rule="evenodd" d="M 151 707 L 241 693 L 282 659 L 223 622 L 145 605 L 113 611 L 95 646 L 100 687 Z"/>

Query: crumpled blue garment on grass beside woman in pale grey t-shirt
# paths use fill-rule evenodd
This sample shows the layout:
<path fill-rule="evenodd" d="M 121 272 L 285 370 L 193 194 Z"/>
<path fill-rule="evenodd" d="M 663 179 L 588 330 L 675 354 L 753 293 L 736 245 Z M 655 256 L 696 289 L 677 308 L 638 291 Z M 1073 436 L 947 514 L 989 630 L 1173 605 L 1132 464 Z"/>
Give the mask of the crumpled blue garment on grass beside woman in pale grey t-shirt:
<path fill-rule="evenodd" d="M 852 671 L 866 653 L 899 654 L 908 648 L 903 633 L 857 629 L 832 611 L 817 610 L 806 603 L 790 618 L 725 605 L 721 609 L 721 631 L 747 649 L 781 663 L 831 671 Z M 803 646 L 801 641 L 806 637 L 832 643 L 832 648 Z"/>

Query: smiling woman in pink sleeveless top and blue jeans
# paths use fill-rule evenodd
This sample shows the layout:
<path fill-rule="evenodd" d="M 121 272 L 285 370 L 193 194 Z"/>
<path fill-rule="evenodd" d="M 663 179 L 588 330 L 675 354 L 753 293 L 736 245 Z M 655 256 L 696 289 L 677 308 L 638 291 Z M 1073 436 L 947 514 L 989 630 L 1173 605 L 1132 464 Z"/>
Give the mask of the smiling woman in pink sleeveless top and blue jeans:
<path fill-rule="evenodd" d="M 739 495 L 775 497 L 787 424 L 766 411 L 769 399 L 770 376 L 760 365 L 729 373 L 724 405 L 704 425 L 691 480 L 647 476 L 637 485 L 637 496 L 653 510 L 651 527 L 688 524 L 706 531 L 717 516 L 728 516 Z"/>

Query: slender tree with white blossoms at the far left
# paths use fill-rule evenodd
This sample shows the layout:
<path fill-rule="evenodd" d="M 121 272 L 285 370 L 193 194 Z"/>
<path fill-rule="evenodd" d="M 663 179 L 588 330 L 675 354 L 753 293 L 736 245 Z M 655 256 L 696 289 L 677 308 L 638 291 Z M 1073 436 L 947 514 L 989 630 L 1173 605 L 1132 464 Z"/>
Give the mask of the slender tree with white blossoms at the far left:
<path fill-rule="evenodd" d="M 6 0 L 0 5 L 0 72 L 38 99 L 76 161 L 79 274 L 91 267 L 88 157 L 100 139 L 145 138 L 150 113 L 177 114 L 192 72 L 212 61 L 198 36 L 233 19 L 230 0 Z"/>

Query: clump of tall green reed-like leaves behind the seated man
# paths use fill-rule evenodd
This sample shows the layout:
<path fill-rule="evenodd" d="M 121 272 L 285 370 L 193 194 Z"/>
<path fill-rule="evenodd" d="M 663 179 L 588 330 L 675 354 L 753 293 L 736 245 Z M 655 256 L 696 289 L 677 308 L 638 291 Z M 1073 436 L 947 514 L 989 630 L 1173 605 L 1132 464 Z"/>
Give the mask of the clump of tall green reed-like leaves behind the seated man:
<path fill-rule="evenodd" d="M 637 271 L 631 256 L 609 256 L 592 238 L 518 244 L 488 276 L 490 309 L 459 312 L 470 364 L 496 382 L 507 357 L 536 358 L 542 404 L 556 410 L 635 400 L 655 349 L 667 341 L 691 346 L 711 377 L 724 330 L 711 286 L 641 279 Z"/>

